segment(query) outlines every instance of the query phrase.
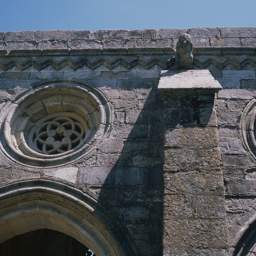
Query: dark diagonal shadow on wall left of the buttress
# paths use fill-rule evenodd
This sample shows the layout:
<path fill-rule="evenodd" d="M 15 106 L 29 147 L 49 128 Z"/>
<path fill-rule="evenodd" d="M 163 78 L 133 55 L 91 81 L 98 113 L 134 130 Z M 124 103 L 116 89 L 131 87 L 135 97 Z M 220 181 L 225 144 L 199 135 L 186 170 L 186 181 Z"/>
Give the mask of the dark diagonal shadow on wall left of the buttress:
<path fill-rule="evenodd" d="M 125 124 L 113 126 L 110 136 L 124 138 L 123 150 L 98 202 L 134 238 L 141 255 L 157 256 L 162 255 L 164 99 L 157 88 L 140 93 L 140 110 L 126 111 Z"/>

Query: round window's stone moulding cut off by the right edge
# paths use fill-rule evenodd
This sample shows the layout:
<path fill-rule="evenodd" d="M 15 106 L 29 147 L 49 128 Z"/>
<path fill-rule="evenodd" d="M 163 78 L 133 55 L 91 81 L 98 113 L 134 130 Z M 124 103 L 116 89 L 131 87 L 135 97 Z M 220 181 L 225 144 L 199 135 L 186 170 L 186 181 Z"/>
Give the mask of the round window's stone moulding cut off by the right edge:
<path fill-rule="evenodd" d="M 239 134 L 244 148 L 256 160 L 256 100 L 251 100 L 240 117 Z"/>

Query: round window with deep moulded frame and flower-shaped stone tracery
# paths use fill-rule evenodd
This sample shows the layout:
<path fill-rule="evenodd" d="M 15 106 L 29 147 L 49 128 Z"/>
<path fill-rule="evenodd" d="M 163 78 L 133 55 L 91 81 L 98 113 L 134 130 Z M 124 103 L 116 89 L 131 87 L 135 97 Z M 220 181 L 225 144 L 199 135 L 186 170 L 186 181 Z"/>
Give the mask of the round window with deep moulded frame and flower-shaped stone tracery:
<path fill-rule="evenodd" d="M 34 84 L 0 113 L 1 151 L 26 166 L 56 167 L 90 157 L 113 123 L 110 101 L 74 79 Z"/>

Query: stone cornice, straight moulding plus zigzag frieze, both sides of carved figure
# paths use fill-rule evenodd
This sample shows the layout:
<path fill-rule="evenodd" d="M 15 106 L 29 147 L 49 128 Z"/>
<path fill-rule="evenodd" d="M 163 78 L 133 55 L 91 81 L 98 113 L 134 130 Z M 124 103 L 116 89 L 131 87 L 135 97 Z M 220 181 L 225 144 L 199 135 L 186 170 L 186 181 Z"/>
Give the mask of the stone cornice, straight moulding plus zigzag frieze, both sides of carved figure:
<path fill-rule="evenodd" d="M 253 47 L 194 47 L 194 68 L 220 69 L 255 68 L 256 56 Z M 95 70 L 103 65 L 112 70 L 123 67 L 132 69 L 137 66 L 144 69 L 174 69 L 175 51 L 171 47 L 159 48 L 108 48 L 108 49 L 51 49 L 51 50 L 12 50 L 0 51 L 0 71 L 15 67 L 23 71 L 33 66 L 42 70 L 51 66 L 61 70 L 68 66 L 70 70 L 86 67 Z"/>

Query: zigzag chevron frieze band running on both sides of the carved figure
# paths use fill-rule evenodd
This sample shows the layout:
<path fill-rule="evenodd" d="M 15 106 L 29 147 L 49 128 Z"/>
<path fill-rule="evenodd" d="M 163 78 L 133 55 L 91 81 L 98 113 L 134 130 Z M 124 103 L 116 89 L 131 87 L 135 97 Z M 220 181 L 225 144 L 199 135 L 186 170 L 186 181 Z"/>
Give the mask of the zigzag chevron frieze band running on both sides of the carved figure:
<path fill-rule="evenodd" d="M 43 70 L 51 67 L 53 70 L 61 70 L 68 66 L 70 70 L 86 68 L 95 70 L 105 67 L 113 70 L 118 67 L 132 69 L 141 67 L 143 69 L 152 69 L 157 65 L 157 69 L 174 69 L 175 57 L 173 55 L 163 56 L 110 56 L 110 57 L 8 57 L 0 59 L 0 71 L 7 71 L 16 68 L 18 71 L 24 71 L 28 68 Z M 194 68 L 200 69 L 255 69 L 256 56 L 194 56 Z"/>

